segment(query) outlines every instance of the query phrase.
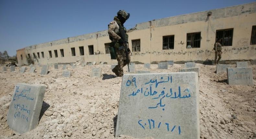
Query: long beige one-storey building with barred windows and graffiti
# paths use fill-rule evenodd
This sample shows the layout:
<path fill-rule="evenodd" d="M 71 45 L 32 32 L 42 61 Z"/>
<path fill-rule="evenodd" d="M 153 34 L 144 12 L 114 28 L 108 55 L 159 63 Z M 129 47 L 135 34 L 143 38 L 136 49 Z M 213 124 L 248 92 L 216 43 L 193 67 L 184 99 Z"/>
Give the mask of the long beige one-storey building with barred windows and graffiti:
<path fill-rule="evenodd" d="M 222 39 L 221 60 L 256 59 L 256 2 L 173 16 L 137 24 L 130 29 L 131 61 L 206 61 L 215 58 L 214 43 Z M 18 63 L 117 63 L 110 59 L 108 31 L 37 44 L 17 50 Z"/>

